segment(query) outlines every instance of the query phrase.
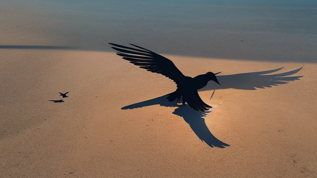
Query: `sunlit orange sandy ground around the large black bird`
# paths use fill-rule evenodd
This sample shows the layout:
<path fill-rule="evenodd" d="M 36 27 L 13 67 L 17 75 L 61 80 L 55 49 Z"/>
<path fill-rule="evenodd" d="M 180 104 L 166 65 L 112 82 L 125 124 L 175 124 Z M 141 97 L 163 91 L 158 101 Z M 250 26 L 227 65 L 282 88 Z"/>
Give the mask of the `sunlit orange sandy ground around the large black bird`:
<path fill-rule="evenodd" d="M 0 51 L 0 177 L 317 177 L 316 64 L 250 90 L 291 79 L 251 72 L 303 64 L 165 55 L 185 75 L 222 72 L 203 116 L 162 98 L 126 109 L 176 85 L 114 52 Z"/>

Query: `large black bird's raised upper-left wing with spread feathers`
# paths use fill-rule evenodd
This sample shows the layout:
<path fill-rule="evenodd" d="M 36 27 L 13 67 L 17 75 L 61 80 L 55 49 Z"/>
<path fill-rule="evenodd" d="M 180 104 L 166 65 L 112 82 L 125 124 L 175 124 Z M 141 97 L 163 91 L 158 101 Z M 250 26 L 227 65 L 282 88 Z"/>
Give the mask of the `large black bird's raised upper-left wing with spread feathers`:
<path fill-rule="evenodd" d="M 184 74 L 174 65 L 174 63 L 164 56 L 130 43 L 130 45 L 133 45 L 140 49 L 126 47 L 113 43 L 109 44 L 115 46 L 111 48 L 119 51 L 116 54 L 122 56 L 122 59 L 129 60 L 130 63 L 139 66 L 140 68 L 146 69 L 147 71 L 160 73 L 165 77 L 172 79 L 176 84 L 178 84 L 178 82 L 183 80 L 183 78 L 185 77 Z"/>

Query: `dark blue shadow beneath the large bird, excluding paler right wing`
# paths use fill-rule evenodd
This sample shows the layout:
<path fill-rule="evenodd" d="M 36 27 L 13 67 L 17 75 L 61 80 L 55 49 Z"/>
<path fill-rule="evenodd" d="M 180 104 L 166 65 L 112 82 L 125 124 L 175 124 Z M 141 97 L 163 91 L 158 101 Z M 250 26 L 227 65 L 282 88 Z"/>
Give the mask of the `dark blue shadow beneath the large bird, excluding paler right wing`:
<path fill-rule="evenodd" d="M 133 105 L 125 106 L 121 109 L 134 109 L 134 108 L 140 108 L 150 105 L 161 105 L 165 107 L 177 107 L 177 101 L 169 102 L 166 97 L 168 96 L 164 95 L 158 98 L 150 99 L 147 101 L 135 103 Z M 191 129 L 194 131 L 194 133 L 197 135 L 197 137 L 201 140 L 207 143 L 210 147 L 218 147 L 218 148 L 225 148 L 225 146 L 230 146 L 227 143 L 223 143 L 222 141 L 218 140 L 215 136 L 212 135 L 210 130 L 208 129 L 205 119 L 207 115 L 207 112 L 200 112 L 195 111 L 191 109 L 188 105 L 179 106 L 176 108 L 173 112 L 173 114 L 180 116 L 184 119 L 184 121 L 189 124 Z"/>

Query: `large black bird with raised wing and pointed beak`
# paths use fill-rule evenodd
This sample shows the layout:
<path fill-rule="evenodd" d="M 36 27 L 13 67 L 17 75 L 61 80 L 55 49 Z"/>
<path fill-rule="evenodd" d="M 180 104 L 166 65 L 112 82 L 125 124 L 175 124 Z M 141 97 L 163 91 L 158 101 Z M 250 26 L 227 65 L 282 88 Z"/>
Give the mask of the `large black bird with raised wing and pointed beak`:
<path fill-rule="evenodd" d="M 210 80 L 215 81 L 217 84 L 219 84 L 216 77 L 216 74 L 218 73 L 207 72 L 205 74 L 191 78 L 189 76 L 185 76 L 181 71 L 179 71 L 171 60 L 150 50 L 130 43 L 130 45 L 140 49 L 126 47 L 113 43 L 109 44 L 115 46 L 111 48 L 119 51 L 116 54 L 122 56 L 122 59 L 128 60 L 130 61 L 130 63 L 136 66 L 140 66 L 140 68 L 146 69 L 147 71 L 160 73 L 165 77 L 172 79 L 176 83 L 177 89 L 175 92 L 172 92 L 167 97 L 170 102 L 173 102 L 175 99 L 178 99 L 177 101 L 179 102 L 180 98 L 183 97 L 182 104 L 184 105 L 185 103 L 187 103 L 195 111 L 208 111 L 212 108 L 210 105 L 204 103 L 204 101 L 199 97 L 197 90 L 206 86 L 208 81 Z"/>

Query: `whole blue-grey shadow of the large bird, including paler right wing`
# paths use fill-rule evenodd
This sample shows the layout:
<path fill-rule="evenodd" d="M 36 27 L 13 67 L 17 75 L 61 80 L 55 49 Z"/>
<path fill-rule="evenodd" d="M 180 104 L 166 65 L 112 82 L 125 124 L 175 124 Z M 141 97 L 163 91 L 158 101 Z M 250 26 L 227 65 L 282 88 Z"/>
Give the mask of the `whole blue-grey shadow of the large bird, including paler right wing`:
<path fill-rule="evenodd" d="M 208 91 L 208 90 L 216 90 L 216 89 L 227 89 L 227 88 L 234 88 L 240 90 L 256 90 L 256 88 L 265 88 L 265 87 L 272 87 L 278 86 L 281 84 L 287 84 L 290 81 L 299 80 L 303 76 L 291 76 L 289 75 L 295 74 L 299 72 L 303 67 L 298 68 L 293 71 L 279 73 L 279 74 L 271 74 L 271 75 L 263 75 L 268 73 L 273 73 L 281 70 L 283 67 L 268 70 L 268 71 L 261 71 L 261 72 L 252 72 L 252 73 L 239 73 L 233 75 L 220 75 L 217 76 L 218 81 L 221 83 L 221 86 L 217 85 L 215 82 L 209 82 L 207 86 L 202 88 L 199 91 Z M 171 93 L 169 93 L 171 94 Z M 166 97 L 169 95 L 163 95 L 158 98 L 142 101 L 139 103 L 135 103 L 132 105 L 127 105 L 122 107 L 121 109 L 134 109 L 134 108 L 141 108 L 145 106 L 151 105 L 160 105 L 165 107 L 177 107 L 177 101 L 169 102 Z M 214 92 L 212 93 L 214 94 Z M 227 143 L 224 143 L 217 139 L 215 136 L 212 135 L 210 130 L 208 129 L 204 116 L 207 115 L 206 112 L 194 111 L 188 105 L 178 107 L 174 110 L 173 114 L 180 116 L 184 119 L 186 123 L 188 123 L 197 137 L 205 142 L 210 147 L 218 147 L 218 148 L 225 148 L 226 146 L 230 146 Z"/>

